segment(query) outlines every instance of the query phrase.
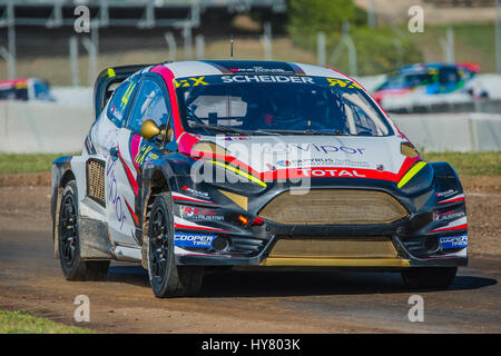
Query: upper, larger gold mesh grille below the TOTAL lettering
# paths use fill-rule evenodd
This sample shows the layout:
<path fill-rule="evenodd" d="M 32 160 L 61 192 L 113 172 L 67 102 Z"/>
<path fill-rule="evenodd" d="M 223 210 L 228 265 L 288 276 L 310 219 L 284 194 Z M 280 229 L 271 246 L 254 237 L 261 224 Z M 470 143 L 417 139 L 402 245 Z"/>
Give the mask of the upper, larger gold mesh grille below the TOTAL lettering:
<path fill-rule="evenodd" d="M 407 216 L 392 196 L 375 190 L 312 189 L 304 195 L 285 191 L 271 200 L 259 217 L 293 225 L 390 224 Z"/>

